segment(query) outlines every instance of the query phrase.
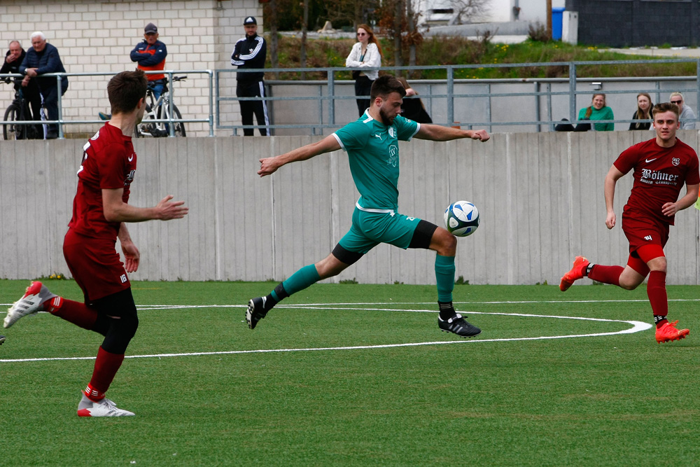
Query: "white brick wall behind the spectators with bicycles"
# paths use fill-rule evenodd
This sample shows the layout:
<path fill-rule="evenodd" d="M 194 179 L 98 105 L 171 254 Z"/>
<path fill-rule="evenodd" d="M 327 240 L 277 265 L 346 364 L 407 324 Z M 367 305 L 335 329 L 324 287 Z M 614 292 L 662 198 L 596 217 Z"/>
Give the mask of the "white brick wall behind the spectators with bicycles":
<path fill-rule="evenodd" d="M 258 18 L 262 34 L 262 8 L 258 0 L 186 0 L 154 2 L 123 0 L 0 0 L 0 50 L 19 40 L 31 47 L 34 31 L 45 34 L 58 48 L 69 73 L 130 70 L 136 64 L 129 54 L 144 37 L 148 22 L 158 26 L 160 41 L 168 48 L 166 69 L 232 69 L 233 44 L 244 35 L 243 18 Z M 97 112 L 109 111 L 106 83 L 110 76 L 71 76 L 63 97 L 66 120 L 97 119 Z M 235 96 L 235 75 L 221 81 L 221 95 Z M 10 85 L 1 83 L 0 109 L 13 99 Z M 209 116 L 209 82 L 206 74 L 190 74 L 175 90 L 176 104 L 183 118 Z M 237 109 L 227 106 L 222 120 L 240 124 Z M 237 106 L 236 106 L 237 107 Z M 66 133 L 92 133 L 98 123 L 66 125 Z M 188 123 L 188 136 L 207 136 L 206 123 Z M 216 132 L 231 134 L 230 130 Z"/>

